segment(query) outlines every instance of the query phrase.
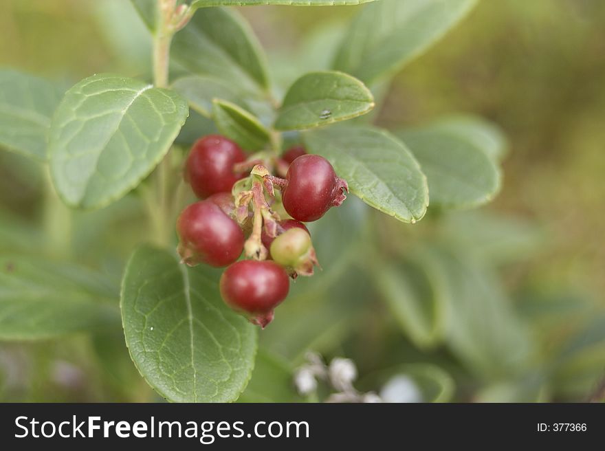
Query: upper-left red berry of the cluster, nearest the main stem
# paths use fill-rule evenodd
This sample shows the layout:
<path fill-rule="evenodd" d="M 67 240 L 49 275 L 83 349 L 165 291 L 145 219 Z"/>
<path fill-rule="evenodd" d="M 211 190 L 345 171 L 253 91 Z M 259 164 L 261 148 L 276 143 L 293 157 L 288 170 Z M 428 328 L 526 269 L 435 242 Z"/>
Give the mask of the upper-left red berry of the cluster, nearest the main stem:
<path fill-rule="evenodd" d="M 216 192 L 230 192 L 243 175 L 233 166 L 245 161 L 245 153 L 233 141 L 221 135 L 208 135 L 193 144 L 185 166 L 185 179 L 200 199 Z"/>

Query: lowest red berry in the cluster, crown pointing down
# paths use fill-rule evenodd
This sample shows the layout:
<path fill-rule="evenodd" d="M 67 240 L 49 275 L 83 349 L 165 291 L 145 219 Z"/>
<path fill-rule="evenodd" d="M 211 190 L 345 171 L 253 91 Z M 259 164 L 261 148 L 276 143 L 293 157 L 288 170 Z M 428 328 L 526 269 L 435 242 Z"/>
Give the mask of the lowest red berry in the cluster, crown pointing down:
<path fill-rule="evenodd" d="M 220 289 L 227 305 L 264 328 L 273 319 L 273 309 L 288 295 L 289 284 L 277 263 L 243 260 L 223 272 Z"/>

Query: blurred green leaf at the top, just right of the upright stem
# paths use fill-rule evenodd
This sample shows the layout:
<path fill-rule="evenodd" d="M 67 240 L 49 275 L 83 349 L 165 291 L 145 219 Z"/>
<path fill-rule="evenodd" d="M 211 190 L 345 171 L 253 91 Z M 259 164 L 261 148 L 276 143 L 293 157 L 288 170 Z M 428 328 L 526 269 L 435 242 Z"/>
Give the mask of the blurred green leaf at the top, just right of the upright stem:
<path fill-rule="evenodd" d="M 203 8 L 175 35 L 171 55 L 194 74 L 241 89 L 267 89 L 266 57 L 250 25 L 235 11 Z"/>

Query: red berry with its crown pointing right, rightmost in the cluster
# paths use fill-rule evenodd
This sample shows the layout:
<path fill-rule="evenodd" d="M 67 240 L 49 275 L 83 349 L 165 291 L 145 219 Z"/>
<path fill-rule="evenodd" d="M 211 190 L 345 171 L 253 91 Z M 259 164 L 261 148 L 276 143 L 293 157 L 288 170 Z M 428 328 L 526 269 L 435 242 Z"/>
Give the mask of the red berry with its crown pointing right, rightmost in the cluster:
<path fill-rule="evenodd" d="M 316 221 L 332 206 L 339 206 L 349 191 L 332 165 L 319 155 L 303 155 L 290 164 L 282 200 L 285 210 L 298 221 Z"/>

